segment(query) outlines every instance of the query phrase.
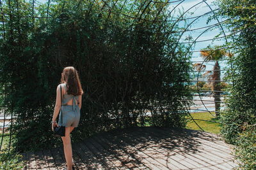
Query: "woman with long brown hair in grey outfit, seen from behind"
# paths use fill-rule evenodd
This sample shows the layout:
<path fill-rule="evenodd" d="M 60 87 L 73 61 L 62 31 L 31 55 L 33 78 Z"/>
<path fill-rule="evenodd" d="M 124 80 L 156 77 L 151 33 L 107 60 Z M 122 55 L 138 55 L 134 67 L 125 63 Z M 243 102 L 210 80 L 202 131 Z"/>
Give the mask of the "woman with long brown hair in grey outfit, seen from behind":
<path fill-rule="evenodd" d="M 82 95 L 83 89 L 81 87 L 77 70 L 74 67 L 65 67 L 61 73 L 61 84 L 57 87 L 56 104 L 52 116 L 52 131 L 56 126 L 65 126 L 65 136 L 61 137 L 61 139 L 63 141 L 67 170 L 72 169 L 72 166 L 74 166 L 70 132 L 72 132 L 73 129 L 79 124 Z M 57 124 L 56 118 L 58 117 L 61 107 L 62 111 Z"/>

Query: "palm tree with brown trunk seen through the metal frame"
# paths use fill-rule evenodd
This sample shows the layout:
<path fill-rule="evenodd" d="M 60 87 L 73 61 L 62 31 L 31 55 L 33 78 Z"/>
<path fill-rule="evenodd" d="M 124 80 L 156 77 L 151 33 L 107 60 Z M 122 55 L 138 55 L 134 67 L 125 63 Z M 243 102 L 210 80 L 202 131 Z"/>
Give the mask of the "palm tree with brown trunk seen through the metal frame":
<path fill-rule="evenodd" d="M 221 95 L 221 69 L 219 61 L 224 57 L 231 57 L 232 54 L 221 49 L 220 46 L 207 46 L 200 51 L 200 56 L 207 61 L 213 61 L 214 67 L 212 71 L 206 71 L 203 76 L 207 76 L 209 84 L 211 84 L 212 94 L 214 96 L 216 118 L 220 116 L 220 95 Z M 196 71 L 204 71 L 206 66 L 204 64 L 196 63 L 193 65 Z"/>

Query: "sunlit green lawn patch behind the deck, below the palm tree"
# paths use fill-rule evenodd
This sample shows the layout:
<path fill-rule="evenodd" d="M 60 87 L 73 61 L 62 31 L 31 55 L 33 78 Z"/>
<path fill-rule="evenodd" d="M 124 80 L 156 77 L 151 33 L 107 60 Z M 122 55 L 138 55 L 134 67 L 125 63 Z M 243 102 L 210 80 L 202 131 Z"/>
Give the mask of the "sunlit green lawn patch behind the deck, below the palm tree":
<path fill-rule="evenodd" d="M 214 112 L 212 112 L 212 115 L 215 115 Z M 204 129 L 205 132 L 211 132 L 214 134 L 220 134 L 220 129 L 221 129 L 221 124 L 219 123 L 214 123 L 217 122 L 216 118 L 214 118 L 209 112 L 201 112 L 201 113 L 191 113 L 191 116 L 195 119 L 200 119 L 200 120 L 195 120 L 195 122 L 202 128 Z M 190 116 L 186 118 L 191 118 Z M 211 120 L 214 122 L 206 122 L 202 120 Z M 199 130 L 202 131 L 198 125 L 195 124 L 193 120 L 189 120 L 186 129 L 193 129 L 193 130 Z"/>

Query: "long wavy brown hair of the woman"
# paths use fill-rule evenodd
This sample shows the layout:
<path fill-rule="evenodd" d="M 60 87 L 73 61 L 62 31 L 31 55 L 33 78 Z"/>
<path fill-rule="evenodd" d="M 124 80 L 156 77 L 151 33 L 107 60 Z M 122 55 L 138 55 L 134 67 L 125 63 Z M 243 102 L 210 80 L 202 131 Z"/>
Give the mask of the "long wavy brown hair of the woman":
<path fill-rule="evenodd" d="M 63 69 L 61 83 L 67 83 L 67 94 L 78 96 L 84 93 L 77 70 L 72 66 Z"/>

